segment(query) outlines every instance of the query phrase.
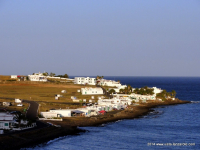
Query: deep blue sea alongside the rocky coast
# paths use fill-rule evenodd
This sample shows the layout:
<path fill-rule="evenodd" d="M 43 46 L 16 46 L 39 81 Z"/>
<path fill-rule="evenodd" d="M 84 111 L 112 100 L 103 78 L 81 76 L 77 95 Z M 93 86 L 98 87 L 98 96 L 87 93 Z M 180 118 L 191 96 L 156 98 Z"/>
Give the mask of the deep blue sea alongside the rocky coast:
<path fill-rule="evenodd" d="M 118 120 L 60 137 L 28 150 L 200 150 L 200 77 L 105 76 L 133 88 L 175 90 L 189 104 L 160 106 L 137 119 Z"/>

